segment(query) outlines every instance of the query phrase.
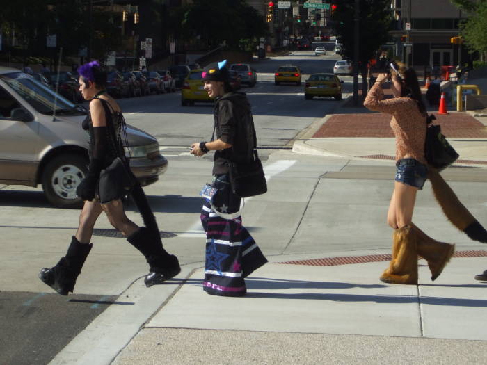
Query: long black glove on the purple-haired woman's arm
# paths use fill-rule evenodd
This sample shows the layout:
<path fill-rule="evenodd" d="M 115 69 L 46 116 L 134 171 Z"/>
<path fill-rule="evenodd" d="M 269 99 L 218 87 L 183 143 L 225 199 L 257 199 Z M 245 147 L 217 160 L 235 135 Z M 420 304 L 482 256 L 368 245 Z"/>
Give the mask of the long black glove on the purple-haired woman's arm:
<path fill-rule="evenodd" d="M 102 171 L 106 151 L 106 127 L 93 128 L 93 157 L 90 159 L 88 174 L 76 188 L 76 195 L 83 200 L 95 198 L 99 172 Z"/>

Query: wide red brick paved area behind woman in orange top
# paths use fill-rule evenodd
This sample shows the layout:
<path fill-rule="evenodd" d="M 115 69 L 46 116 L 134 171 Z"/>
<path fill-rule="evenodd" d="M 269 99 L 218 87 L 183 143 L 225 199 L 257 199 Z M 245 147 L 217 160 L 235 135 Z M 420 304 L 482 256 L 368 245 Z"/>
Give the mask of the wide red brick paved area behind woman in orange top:
<path fill-rule="evenodd" d="M 436 124 L 440 124 L 448 138 L 487 138 L 487 127 L 471 115 L 450 113 L 436 115 L 436 118 Z M 390 120 L 390 115 L 383 113 L 335 114 L 313 138 L 394 138 Z"/>

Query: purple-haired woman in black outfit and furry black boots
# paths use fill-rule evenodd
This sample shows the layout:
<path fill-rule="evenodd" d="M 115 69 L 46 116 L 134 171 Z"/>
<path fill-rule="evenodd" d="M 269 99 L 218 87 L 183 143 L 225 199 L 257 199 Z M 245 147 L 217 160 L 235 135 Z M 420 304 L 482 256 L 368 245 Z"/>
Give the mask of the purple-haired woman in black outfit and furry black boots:
<path fill-rule="evenodd" d="M 119 193 L 122 189 L 100 184 L 99 180 L 100 172 L 117 158 L 129 170 L 129 162 L 122 147 L 125 120 L 120 106 L 106 93 L 106 72 L 97 61 L 82 65 L 78 72 L 79 90 L 84 99 L 90 100 L 90 114 L 83 122 L 83 129 L 90 136 L 90 164 L 86 177 L 77 187 L 77 195 L 84 200 L 84 205 L 79 216 L 78 230 L 72 236 L 67 253 L 56 266 L 43 268 L 39 277 L 62 295 L 74 290 L 76 279 L 93 246 L 90 243 L 93 227 L 104 211 L 111 225 L 122 232 L 149 263 L 150 273 L 145 276 L 145 285 L 161 284 L 177 275 L 181 269 L 177 257 L 163 249 L 157 222 L 141 185 L 136 183 L 130 195 L 141 212 L 145 227 L 138 227 L 127 218 L 122 204 L 126 194 Z"/>

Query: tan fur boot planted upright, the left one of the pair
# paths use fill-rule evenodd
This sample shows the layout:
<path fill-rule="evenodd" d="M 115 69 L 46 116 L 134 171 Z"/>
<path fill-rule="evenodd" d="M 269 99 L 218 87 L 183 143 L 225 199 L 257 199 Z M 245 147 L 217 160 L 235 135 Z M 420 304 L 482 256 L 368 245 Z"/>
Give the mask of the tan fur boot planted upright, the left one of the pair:
<path fill-rule="evenodd" d="M 416 233 L 406 225 L 392 235 L 392 260 L 380 279 L 390 284 L 417 284 Z"/>

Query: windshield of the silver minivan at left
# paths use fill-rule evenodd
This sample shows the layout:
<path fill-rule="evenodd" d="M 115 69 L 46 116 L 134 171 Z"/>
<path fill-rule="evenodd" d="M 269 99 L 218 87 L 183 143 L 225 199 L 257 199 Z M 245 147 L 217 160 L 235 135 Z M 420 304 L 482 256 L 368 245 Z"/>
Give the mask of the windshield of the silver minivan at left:
<path fill-rule="evenodd" d="M 39 81 L 24 72 L 13 72 L 0 75 L 0 80 L 13 88 L 26 102 L 31 104 L 41 114 L 51 115 L 56 113 L 83 115 L 77 106 L 57 94 L 53 90 L 42 85 Z"/>

